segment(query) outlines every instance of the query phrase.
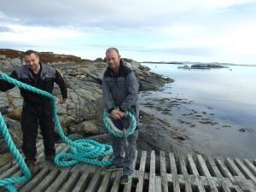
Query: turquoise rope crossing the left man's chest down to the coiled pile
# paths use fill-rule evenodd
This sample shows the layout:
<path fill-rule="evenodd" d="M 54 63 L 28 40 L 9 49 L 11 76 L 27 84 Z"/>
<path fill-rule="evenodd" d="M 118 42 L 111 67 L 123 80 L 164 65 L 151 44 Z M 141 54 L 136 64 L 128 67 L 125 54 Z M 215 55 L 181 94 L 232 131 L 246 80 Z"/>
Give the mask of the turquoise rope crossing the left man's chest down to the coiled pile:
<path fill-rule="evenodd" d="M 62 140 L 71 147 L 71 153 L 56 154 L 55 164 L 57 166 L 73 166 L 79 162 L 84 162 L 95 166 L 109 166 L 112 164 L 113 160 L 96 160 L 96 158 L 99 156 L 105 156 L 113 153 L 113 148 L 110 145 L 97 143 L 96 141 L 91 141 L 90 139 L 72 141 L 65 136 L 61 128 L 60 120 L 58 119 L 55 96 L 47 91 L 39 90 L 38 88 L 35 88 L 29 84 L 24 84 L 16 79 L 10 78 L 4 73 L 2 73 L 1 76 L 3 80 L 9 82 L 10 84 L 15 84 L 21 89 L 32 91 L 33 93 L 46 96 L 50 99 L 56 129 Z M 63 159 L 67 160 L 64 161 Z"/>

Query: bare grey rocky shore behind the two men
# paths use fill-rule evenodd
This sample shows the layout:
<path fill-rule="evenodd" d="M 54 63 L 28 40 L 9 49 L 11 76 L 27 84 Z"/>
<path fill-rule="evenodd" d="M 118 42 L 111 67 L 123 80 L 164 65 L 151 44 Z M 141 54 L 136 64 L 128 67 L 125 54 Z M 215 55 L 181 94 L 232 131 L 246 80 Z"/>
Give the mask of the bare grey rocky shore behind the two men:
<path fill-rule="evenodd" d="M 50 52 L 40 53 L 40 60 L 55 66 L 67 82 L 68 100 L 58 106 L 58 115 L 63 130 L 67 135 L 79 137 L 106 136 L 102 125 L 102 73 L 107 64 L 102 61 L 82 60 L 73 55 L 55 55 Z M 0 49 L 0 69 L 10 73 L 14 67 L 22 65 L 22 52 L 11 49 Z M 47 60 L 49 58 L 49 60 Z M 70 60 L 69 60 L 70 58 Z M 157 90 L 172 79 L 149 72 L 148 67 L 130 59 L 124 59 L 126 65 L 135 70 L 141 81 L 141 90 Z M 54 90 L 55 96 L 61 96 L 59 89 Z M 22 106 L 20 90 L 15 88 L 8 92 L 0 92 L 0 111 L 9 127 L 9 131 L 18 148 L 21 146 L 22 132 L 20 129 L 20 113 Z M 185 153 L 183 135 L 172 130 L 172 126 L 154 115 L 141 113 L 138 149 L 173 151 Z M 107 137 L 98 140 L 108 143 Z M 8 152 L 5 142 L 0 139 L 0 153 Z M 175 146 L 175 147 L 173 147 Z"/>

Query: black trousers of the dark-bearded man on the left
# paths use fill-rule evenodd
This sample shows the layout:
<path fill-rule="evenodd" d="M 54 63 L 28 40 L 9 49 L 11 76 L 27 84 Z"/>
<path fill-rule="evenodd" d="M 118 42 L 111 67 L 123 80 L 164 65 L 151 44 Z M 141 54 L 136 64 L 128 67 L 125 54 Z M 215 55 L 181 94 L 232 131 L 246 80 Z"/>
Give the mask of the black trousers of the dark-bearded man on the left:
<path fill-rule="evenodd" d="M 55 126 L 50 102 L 25 102 L 21 115 L 21 129 L 23 132 L 22 150 L 26 160 L 36 161 L 38 125 L 40 125 L 44 139 L 44 154 L 55 155 Z"/>

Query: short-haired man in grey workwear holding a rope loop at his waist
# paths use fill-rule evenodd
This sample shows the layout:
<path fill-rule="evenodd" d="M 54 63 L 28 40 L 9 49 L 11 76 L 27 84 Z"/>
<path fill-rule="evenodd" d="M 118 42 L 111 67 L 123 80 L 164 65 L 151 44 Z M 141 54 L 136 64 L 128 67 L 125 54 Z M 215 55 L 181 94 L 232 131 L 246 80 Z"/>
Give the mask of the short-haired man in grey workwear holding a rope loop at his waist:
<path fill-rule="evenodd" d="M 126 67 L 120 59 L 119 50 L 108 48 L 106 50 L 108 68 L 102 79 L 103 100 L 113 124 L 120 130 L 128 128 L 129 119 L 124 117 L 125 110 L 130 110 L 136 116 L 138 99 L 138 83 L 135 73 Z M 137 149 L 138 131 L 127 137 L 129 146 L 125 147 L 124 138 L 111 135 L 113 144 L 113 166 L 108 171 L 123 170 L 120 183 L 131 182 L 133 172 L 132 163 Z M 125 152 L 125 156 L 124 156 Z"/>

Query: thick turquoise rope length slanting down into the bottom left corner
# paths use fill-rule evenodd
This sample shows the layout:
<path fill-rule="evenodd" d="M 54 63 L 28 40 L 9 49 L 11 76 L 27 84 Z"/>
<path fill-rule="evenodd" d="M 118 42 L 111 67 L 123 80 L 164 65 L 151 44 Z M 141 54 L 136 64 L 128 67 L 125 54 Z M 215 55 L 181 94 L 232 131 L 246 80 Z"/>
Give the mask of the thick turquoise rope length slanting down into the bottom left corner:
<path fill-rule="evenodd" d="M 9 130 L 7 125 L 4 123 L 2 113 L 0 113 L 0 131 L 4 137 L 5 142 L 8 145 L 9 151 L 11 154 L 14 154 L 15 160 L 18 163 L 18 166 L 21 169 L 21 172 L 24 174 L 22 177 L 9 177 L 0 180 L 0 186 L 9 190 L 10 192 L 15 192 L 17 189 L 15 188 L 15 183 L 26 182 L 32 177 L 32 173 L 26 166 L 26 163 L 20 154 L 20 151 L 15 147 L 15 143 L 12 140 L 12 137 L 9 134 Z"/>

